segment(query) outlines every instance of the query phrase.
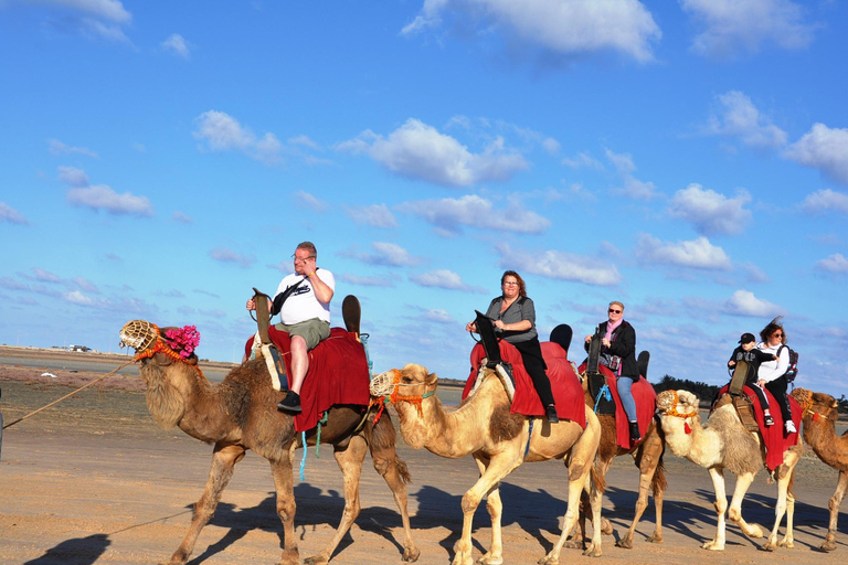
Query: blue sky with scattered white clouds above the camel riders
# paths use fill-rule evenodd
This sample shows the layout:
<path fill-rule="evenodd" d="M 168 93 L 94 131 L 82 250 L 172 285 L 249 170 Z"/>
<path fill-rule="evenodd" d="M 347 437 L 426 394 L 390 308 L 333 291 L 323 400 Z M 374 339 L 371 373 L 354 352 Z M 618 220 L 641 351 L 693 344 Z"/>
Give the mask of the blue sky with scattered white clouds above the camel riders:
<path fill-rule="evenodd" d="M 783 315 L 797 383 L 848 394 L 847 12 L 0 0 L 0 342 L 144 318 L 233 361 L 309 239 L 377 371 L 466 376 L 511 268 L 543 338 L 623 301 L 653 380 L 721 383 Z"/>

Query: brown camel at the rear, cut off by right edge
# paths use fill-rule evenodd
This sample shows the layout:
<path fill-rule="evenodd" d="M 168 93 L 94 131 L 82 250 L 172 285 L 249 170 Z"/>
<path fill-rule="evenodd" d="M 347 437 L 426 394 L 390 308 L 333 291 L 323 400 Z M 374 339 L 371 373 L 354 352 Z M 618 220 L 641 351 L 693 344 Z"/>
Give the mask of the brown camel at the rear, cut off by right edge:
<path fill-rule="evenodd" d="M 836 521 L 839 516 L 839 507 L 848 490 L 848 431 L 837 437 L 836 420 L 839 418 L 839 413 L 836 409 L 836 399 L 829 394 L 795 388 L 792 391 L 792 396 L 804 408 L 802 417 L 804 440 L 823 462 L 839 471 L 836 491 L 827 501 L 827 508 L 830 509 L 827 536 L 819 547 L 823 551 L 833 552 L 836 550 Z"/>

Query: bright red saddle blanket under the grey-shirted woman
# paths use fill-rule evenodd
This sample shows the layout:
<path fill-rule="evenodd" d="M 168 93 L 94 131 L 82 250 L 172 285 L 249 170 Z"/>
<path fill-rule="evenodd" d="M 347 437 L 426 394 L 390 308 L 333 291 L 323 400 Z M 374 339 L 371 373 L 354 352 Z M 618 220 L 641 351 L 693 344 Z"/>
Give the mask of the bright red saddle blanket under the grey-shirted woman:
<path fill-rule="evenodd" d="M 576 422 L 583 428 L 586 427 L 586 408 L 583 402 L 583 386 L 580 383 L 574 366 L 569 362 L 568 353 L 559 344 L 543 341 L 542 356 L 548 365 L 548 379 L 551 381 L 553 399 L 556 402 L 556 415 L 560 419 Z M 471 392 L 480 362 L 486 356 L 486 351 L 478 343 L 471 350 L 471 374 L 463 390 L 463 399 Z M 533 381 L 524 370 L 521 353 L 504 340 L 500 340 L 500 359 L 512 365 L 512 376 L 516 379 L 516 396 L 512 398 L 512 414 L 524 416 L 544 416 L 544 406 L 539 399 L 539 394 L 533 387 Z"/>

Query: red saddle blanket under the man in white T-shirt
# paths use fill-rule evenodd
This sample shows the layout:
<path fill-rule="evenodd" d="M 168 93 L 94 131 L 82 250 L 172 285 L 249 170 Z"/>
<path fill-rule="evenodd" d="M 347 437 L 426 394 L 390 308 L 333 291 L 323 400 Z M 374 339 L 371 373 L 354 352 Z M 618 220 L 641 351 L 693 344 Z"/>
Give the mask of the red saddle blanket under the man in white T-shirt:
<path fill-rule="evenodd" d="M 288 385 L 292 386 L 292 355 L 288 333 L 273 326 L 268 337 L 277 347 L 286 363 Z M 244 352 L 250 358 L 252 337 Z M 303 412 L 295 415 L 295 431 L 306 431 L 318 425 L 321 413 L 336 404 L 359 404 L 368 406 L 371 393 L 368 390 L 371 373 L 368 370 L 365 348 L 354 333 L 343 328 L 330 328 L 330 337 L 309 352 L 309 370 L 300 388 Z"/>

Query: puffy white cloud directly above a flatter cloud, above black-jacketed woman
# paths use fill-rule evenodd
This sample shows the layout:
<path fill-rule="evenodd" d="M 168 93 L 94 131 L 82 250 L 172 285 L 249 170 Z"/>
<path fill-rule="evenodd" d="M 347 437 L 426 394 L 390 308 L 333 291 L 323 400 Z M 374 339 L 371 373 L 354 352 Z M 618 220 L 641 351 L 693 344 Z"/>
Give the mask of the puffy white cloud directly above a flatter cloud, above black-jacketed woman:
<path fill-rule="evenodd" d="M 742 233 L 751 222 L 751 211 L 745 204 L 751 195 L 740 190 L 732 199 L 700 184 L 689 184 L 675 193 L 668 213 L 690 222 L 702 235 L 733 235 Z"/>

